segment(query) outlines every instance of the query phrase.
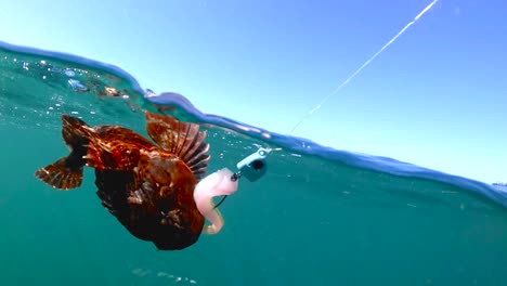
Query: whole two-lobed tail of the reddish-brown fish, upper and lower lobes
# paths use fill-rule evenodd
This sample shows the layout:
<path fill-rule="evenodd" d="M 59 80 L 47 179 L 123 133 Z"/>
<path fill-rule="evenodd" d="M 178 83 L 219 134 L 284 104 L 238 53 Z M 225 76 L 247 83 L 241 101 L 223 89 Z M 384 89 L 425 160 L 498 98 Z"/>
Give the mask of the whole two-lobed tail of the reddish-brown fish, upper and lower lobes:
<path fill-rule="evenodd" d="M 40 168 L 35 176 L 55 188 L 69 190 L 80 186 L 90 132 L 92 131 L 89 126 L 81 119 L 62 115 L 62 136 L 70 154 Z"/>

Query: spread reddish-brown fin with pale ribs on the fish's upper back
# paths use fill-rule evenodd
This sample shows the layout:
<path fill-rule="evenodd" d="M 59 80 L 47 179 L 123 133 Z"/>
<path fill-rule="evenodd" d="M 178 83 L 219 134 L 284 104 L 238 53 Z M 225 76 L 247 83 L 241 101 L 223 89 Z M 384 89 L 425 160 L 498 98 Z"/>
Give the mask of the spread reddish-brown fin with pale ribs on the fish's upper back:
<path fill-rule="evenodd" d="M 168 115 L 145 112 L 146 131 L 162 150 L 180 157 L 192 170 L 197 181 L 206 173 L 209 144 L 206 131 L 199 125 L 181 122 Z"/>

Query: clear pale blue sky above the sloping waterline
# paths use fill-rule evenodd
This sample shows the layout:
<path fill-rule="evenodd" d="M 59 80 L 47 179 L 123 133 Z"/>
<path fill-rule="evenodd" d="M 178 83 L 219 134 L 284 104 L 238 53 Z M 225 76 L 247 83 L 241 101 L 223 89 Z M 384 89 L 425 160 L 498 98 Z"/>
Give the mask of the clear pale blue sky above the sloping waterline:
<path fill-rule="evenodd" d="M 287 133 L 429 0 L 2 1 L 0 40 Z M 295 135 L 507 181 L 507 2 L 440 0 Z"/>

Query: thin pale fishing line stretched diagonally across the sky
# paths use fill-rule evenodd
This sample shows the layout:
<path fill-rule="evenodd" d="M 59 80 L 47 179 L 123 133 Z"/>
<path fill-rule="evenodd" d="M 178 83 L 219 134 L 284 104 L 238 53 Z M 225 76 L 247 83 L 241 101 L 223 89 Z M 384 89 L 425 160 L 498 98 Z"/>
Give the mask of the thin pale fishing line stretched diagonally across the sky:
<path fill-rule="evenodd" d="M 366 62 L 364 62 L 364 64 L 358 68 L 352 75 L 350 75 L 343 82 L 341 82 L 341 84 L 339 84 L 332 93 L 327 94 L 326 96 L 324 96 L 322 99 L 322 101 L 315 105 L 315 107 L 313 107 L 312 109 L 310 109 L 307 115 L 304 115 L 294 127 L 292 129 L 287 133 L 287 134 L 291 134 L 304 120 L 307 120 L 310 116 L 312 116 L 316 110 L 318 110 L 322 105 L 324 103 L 327 102 L 327 100 L 330 99 L 330 96 L 335 95 L 336 93 L 338 93 L 344 86 L 347 86 L 347 83 L 349 83 L 355 76 L 358 76 L 359 73 L 361 73 L 361 70 L 363 70 L 363 68 L 365 68 L 367 65 L 369 65 L 369 63 L 372 63 L 375 57 L 377 57 L 381 52 L 384 52 L 384 50 L 386 50 L 389 46 L 391 46 L 391 43 L 393 43 L 401 35 L 403 35 L 403 32 L 405 32 L 406 29 L 408 29 L 410 26 L 414 25 L 424 14 L 426 14 L 426 12 L 428 12 L 437 2 L 439 2 L 439 0 L 433 0 L 433 2 L 429 3 L 425 9 L 422 9 L 422 11 L 419 12 L 419 14 L 417 14 L 417 16 L 414 17 L 413 21 L 411 21 L 408 24 L 405 25 L 405 27 L 403 27 L 403 29 L 401 29 L 394 37 L 392 37 L 391 40 L 389 40 L 382 48 L 380 48 L 380 50 L 378 50 L 372 57 L 369 57 Z"/>

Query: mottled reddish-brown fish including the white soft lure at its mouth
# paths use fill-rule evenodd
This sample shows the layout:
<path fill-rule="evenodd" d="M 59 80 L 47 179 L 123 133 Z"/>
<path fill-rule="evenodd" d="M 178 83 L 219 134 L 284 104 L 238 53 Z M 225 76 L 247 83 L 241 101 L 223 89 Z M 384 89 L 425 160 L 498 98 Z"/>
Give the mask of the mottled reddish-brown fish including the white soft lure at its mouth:
<path fill-rule="evenodd" d="M 119 126 L 88 126 L 62 116 L 67 157 L 36 171 L 58 190 L 80 186 L 83 167 L 95 169 L 102 205 L 135 237 L 158 249 L 183 249 L 200 233 L 223 225 L 211 198 L 237 190 L 233 173 L 222 169 L 203 179 L 208 167 L 206 131 L 196 123 L 145 112 L 147 134 Z M 211 222 L 205 226 L 205 217 Z"/>

